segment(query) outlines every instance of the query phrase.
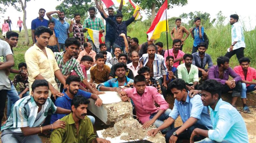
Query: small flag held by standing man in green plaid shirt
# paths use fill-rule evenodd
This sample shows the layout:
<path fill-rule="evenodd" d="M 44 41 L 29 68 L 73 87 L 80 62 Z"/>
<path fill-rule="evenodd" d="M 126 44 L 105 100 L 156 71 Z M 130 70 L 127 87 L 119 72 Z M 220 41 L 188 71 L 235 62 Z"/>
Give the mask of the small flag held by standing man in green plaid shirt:
<path fill-rule="evenodd" d="M 91 37 L 93 44 L 96 48 L 100 48 L 101 43 L 105 43 L 105 37 L 100 31 L 86 28 L 89 36 Z"/>

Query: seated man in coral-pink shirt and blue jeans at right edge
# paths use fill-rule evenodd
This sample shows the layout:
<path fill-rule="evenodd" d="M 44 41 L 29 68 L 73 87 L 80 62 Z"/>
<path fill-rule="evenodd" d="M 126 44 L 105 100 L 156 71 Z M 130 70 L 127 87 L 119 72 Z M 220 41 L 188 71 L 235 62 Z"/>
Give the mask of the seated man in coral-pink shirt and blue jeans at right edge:
<path fill-rule="evenodd" d="M 248 57 L 242 57 L 239 59 L 240 65 L 234 67 L 234 71 L 242 78 L 242 92 L 241 98 L 244 103 L 243 109 L 246 113 L 251 113 L 249 107 L 246 105 L 246 93 L 256 90 L 256 82 L 252 79 L 256 79 L 256 71 L 250 67 L 251 60 Z"/>

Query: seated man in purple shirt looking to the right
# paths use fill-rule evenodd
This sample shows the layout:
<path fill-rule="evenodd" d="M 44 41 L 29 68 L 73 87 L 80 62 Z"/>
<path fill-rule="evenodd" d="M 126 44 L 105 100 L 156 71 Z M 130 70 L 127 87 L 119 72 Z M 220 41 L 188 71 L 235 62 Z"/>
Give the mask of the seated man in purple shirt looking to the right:
<path fill-rule="evenodd" d="M 233 79 L 229 80 L 229 76 Z M 231 105 L 236 107 L 236 100 L 241 96 L 242 83 L 241 77 L 229 67 L 229 58 L 226 56 L 219 56 L 217 58 L 217 65 L 212 66 L 208 72 L 208 79 L 214 79 L 223 85 L 222 93 L 232 91 Z M 246 99 L 242 100 L 246 104 Z"/>

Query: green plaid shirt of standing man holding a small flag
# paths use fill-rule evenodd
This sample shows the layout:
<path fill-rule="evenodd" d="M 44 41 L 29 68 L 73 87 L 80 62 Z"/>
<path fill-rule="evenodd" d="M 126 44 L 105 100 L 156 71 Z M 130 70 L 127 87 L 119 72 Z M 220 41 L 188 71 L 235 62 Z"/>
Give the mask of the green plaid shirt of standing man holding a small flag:
<path fill-rule="evenodd" d="M 88 17 L 84 20 L 84 28 L 90 28 L 92 30 L 104 30 L 104 23 L 100 18 L 95 17 L 94 21 L 91 19 L 91 17 Z M 92 38 L 87 34 L 87 39 L 92 40 Z"/>

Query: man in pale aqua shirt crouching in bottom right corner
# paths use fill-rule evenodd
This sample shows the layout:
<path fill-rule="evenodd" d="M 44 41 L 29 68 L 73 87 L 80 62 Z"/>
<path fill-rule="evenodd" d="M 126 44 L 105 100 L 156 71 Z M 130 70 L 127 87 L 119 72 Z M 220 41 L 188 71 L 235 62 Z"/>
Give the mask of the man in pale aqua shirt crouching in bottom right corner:
<path fill-rule="evenodd" d="M 243 117 L 228 102 L 222 101 L 220 98 L 222 85 L 216 80 L 208 79 L 199 86 L 199 89 L 202 91 L 201 100 L 204 106 L 208 106 L 210 110 L 213 129 L 194 129 L 191 133 L 190 143 L 194 142 L 193 139 L 197 135 L 206 138 L 196 143 L 248 143 Z"/>

